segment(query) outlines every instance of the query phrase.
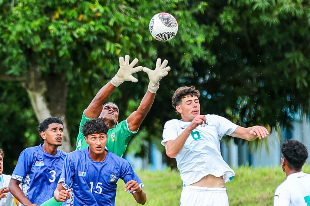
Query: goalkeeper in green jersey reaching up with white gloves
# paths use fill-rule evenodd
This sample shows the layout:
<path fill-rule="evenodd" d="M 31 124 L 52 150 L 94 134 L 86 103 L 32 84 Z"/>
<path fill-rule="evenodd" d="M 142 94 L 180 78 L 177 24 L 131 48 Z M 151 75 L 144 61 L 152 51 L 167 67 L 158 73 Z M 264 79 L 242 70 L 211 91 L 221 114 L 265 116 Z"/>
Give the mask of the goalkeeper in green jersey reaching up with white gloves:
<path fill-rule="evenodd" d="M 137 66 L 138 59 L 135 58 L 129 64 L 129 56 L 119 58 L 119 70 L 117 74 L 104 85 L 95 98 L 91 101 L 88 107 L 82 114 L 82 120 L 80 123 L 80 131 L 77 138 L 76 150 L 87 148 L 87 143 L 84 140 L 82 133 L 83 124 L 91 118 L 102 118 L 108 125 L 108 141 L 106 147 L 109 152 L 113 152 L 122 157 L 125 153 L 127 144 L 131 137 L 138 132 L 138 129 L 144 120 L 145 116 L 150 111 L 155 99 L 156 91 L 159 87 L 159 81 L 168 74 L 170 67 L 167 66 L 168 61 L 157 59 L 156 68 L 154 70 L 146 67 Z M 167 67 L 166 67 L 167 66 Z M 104 103 L 106 99 L 112 94 L 116 87 L 120 86 L 125 81 L 138 82 L 138 80 L 132 76 L 132 74 L 143 70 L 148 74 L 150 82 L 148 84 L 148 90 L 144 95 L 138 109 L 131 113 L 126 120 L 119 122 L 118 115 L 119 109 L 116 103 L 108 102 Z"/>

